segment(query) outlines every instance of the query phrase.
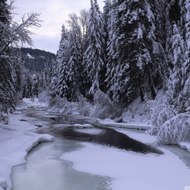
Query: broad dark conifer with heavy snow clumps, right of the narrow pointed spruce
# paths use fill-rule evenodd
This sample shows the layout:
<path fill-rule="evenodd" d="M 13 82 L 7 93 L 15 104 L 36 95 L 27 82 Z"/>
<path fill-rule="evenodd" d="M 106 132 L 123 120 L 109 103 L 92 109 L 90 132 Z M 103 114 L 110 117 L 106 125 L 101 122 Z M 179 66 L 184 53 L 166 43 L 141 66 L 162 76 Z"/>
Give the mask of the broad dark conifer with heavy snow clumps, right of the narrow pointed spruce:
<path fill-rule="evenodd" d="M 148 0 L 115 1 L 110 12 L 107 80 L 113 99 L 130 102 L 156 96 L 161 83 L 156 56 L 155 16 Z M 159 43 L 157 43 L 157 46 Z"/>

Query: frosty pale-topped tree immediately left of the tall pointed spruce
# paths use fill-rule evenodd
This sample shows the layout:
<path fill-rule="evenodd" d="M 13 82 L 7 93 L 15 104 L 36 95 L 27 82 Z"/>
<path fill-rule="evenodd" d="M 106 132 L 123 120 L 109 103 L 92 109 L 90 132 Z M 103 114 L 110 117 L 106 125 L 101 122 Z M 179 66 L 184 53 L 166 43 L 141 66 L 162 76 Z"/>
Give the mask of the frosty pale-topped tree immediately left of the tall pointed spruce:
<path fill-rule="evenodd" d="M 70 15 L 70 44 L 71 44 L 71 56 L 68 62 L 69 66 L 69 89 L 70 100 L 77 100 L 78 95 L 86 95 L 87 77 L 85 72 L 85 65 L 83 62 L 84 44 L 83 40 L 86 40 L 84 31 L 86 27 L 85 23 L 81 23 L 82 18 L 77 15 Z M 82 28 L 81 28 L 82 25 Z"/>

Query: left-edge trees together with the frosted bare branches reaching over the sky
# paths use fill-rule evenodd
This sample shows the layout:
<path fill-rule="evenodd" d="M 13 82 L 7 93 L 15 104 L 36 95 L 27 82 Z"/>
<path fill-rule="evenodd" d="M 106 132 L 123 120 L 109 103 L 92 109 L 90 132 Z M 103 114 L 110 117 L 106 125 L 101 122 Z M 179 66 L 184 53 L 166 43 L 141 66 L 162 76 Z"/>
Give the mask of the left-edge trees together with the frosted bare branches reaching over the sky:
<path fill-rule="evenodd" d="M 14 94 L 18 90 L 14 83 L 16 80 L 13 79 L 13 65 L 17 60 L 13 46 L 18 46 L 19 43 L 32 44 L 29 28 L 39 26 L 39 22 L 36 13 L 23 17 L 21 23 L 14 22 L 12 4 L 7 4 L 6 0 L 0 2 L 0 107 L 5 111 L 8 107 L 14 107 Z"/>

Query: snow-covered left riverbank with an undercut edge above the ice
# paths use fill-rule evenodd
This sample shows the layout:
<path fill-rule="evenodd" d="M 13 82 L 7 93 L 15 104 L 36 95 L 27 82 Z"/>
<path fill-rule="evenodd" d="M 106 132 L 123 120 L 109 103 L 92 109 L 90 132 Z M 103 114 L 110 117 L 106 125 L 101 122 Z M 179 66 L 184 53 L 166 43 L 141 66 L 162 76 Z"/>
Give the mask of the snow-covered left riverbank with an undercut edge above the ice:
<path fill-rule="evenodd" d="M 0 123 L 0 190 L 11 189 L 12 168 L 26 162 L 27 153 L 38 143 L 52 141 L 50 135 L 32 132 L 35 127 L 23 119 L 22 114 L 9 117 L 8 125 Z"/>

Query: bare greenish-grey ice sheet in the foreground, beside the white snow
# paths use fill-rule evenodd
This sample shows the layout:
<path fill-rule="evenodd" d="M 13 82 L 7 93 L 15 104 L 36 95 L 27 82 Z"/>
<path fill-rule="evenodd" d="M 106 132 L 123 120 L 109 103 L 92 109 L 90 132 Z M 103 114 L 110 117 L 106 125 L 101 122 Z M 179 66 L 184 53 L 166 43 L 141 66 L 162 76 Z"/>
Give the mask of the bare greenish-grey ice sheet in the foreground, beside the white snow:
<path fill-rule="evenodd" d="M 60 159 L 80 148 L 78 142 L 61 138 L 39 145 L 27 157 L 26 165 L 14 168 L 13 190 L 108 190 L 108 178 L 77 172 L 71 162 Z"/>

